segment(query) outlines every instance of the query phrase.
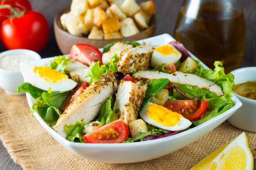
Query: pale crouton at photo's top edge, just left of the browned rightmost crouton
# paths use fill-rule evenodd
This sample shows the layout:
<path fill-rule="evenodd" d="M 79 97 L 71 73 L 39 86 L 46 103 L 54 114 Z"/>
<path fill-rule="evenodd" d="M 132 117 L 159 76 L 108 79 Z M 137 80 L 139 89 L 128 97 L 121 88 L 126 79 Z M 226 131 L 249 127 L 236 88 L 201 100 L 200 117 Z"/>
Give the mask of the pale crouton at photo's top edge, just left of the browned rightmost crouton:
<path fill-rule="evenodd" d="M 134 0 L 125 0 L 121 5 L 121 10 L 128 16 L 132 17 L 140 11 L 139 5 Z"/>

